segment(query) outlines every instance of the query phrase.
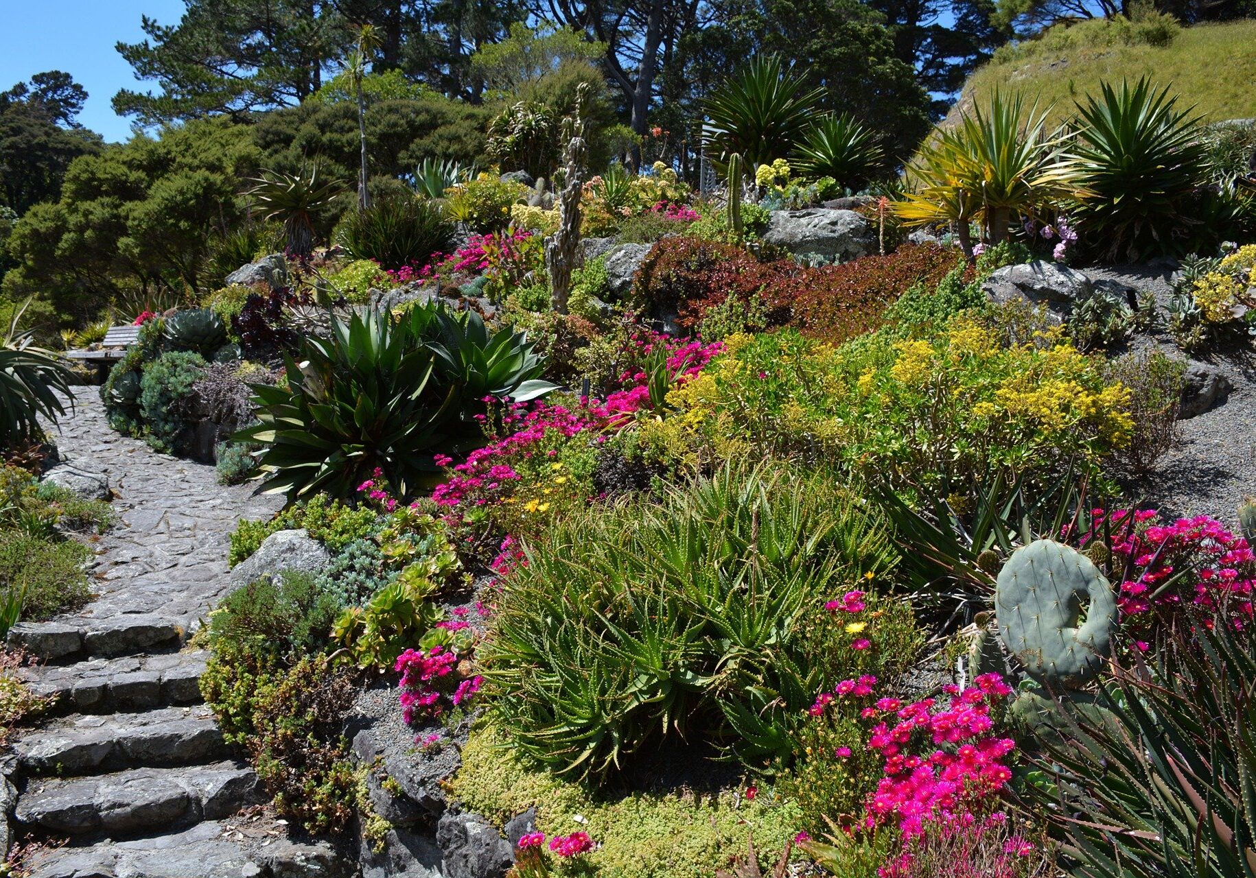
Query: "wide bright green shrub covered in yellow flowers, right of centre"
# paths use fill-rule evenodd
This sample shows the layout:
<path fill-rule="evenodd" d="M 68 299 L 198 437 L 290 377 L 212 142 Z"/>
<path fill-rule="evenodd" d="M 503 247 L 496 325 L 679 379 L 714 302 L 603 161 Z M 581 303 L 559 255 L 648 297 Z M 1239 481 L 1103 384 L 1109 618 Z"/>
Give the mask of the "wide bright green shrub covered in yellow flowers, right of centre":
<path fill-rule="evenodd" d="M 911 495 L 997 467 L 1096 469 L 1133 430 L 1129 389 L 1055 330 L 1004 347 L 993 329 L 956 318 L 927 339 L 834 348 L 782 330 L 726 344 L 674 392 L 672 427 L 687 426 L 700 456 L 839 461 Z"/>

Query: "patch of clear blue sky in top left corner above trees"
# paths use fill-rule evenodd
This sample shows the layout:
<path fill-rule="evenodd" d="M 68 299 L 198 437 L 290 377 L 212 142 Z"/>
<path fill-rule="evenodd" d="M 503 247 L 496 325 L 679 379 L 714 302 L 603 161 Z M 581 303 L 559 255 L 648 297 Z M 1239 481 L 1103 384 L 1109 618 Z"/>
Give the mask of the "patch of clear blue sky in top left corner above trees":
<path fill-rule="evenodd" d="M 65 70 L 88 92 L 79 122 L 107 141 L 124 141 L 131 126 L 109 100 L 138 83 L 113 45 L 139 40 L 141 15 L 175 24 L 182 13 L 182 0 L 0 0 L 0 90 L 41 70 Z"/>

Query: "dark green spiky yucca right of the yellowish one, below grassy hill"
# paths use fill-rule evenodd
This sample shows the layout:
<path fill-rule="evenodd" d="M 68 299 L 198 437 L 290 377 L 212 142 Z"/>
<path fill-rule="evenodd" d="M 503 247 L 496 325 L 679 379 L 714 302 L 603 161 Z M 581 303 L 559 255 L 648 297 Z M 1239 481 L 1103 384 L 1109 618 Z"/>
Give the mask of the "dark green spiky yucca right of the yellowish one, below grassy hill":
<path fill-rule="evenodd" d="M 1112 260 L 1177 252 L 1198 225 L 1192 200 L 1208 180 L 1199 117 L 1145 77 L 1100 83 L 1078 116 L 1071 166 L 1083 242 Z"/>

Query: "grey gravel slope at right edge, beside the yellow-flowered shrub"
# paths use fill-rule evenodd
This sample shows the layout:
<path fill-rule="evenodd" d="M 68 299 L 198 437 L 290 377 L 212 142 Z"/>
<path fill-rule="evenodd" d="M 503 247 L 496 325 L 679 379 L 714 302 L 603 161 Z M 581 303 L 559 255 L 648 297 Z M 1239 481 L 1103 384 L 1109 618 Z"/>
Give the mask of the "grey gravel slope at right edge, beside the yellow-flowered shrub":
<path fill-rule="evenodd" d="M 1156 294 L 1161 328 L 1130 342 L 1133 350 L 1161 349 L 1183 357 L 1164 332 L 1164 310 L 1172 288 L 1172 269 L 1162 265 L 1115 265 L 1081 269 L 1091 279 L 1117 280 Z M 1132 485 L 1135 497 L 1159 509 L 1166 518 L 1211 515 L 1237 525 L 1238 502 L 1256 494 L 1256 349 L 1242 344 L 1198 354 L 1194 359 L 1217 367 L 1233 384 L 1221 404 L 1178 422 L 1177 445 L 1157 461 L 1150 476 Z"/>

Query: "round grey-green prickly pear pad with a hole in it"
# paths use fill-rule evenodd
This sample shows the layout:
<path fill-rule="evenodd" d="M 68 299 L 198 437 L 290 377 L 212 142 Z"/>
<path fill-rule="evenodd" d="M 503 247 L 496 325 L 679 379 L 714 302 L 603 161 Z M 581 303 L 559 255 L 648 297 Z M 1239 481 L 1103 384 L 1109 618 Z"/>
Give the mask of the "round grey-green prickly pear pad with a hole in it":
<path fill-rule="evenodd" d="M 1089 558 L 1054 540 L 1036 540 L 1014 551 L 1000 570 L 995 612 L 1004 643 L 1031 677 L 1076 686 L 1108 656 L 1117 599 Z"/>

